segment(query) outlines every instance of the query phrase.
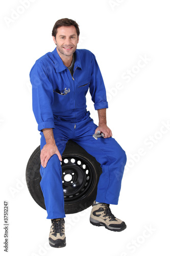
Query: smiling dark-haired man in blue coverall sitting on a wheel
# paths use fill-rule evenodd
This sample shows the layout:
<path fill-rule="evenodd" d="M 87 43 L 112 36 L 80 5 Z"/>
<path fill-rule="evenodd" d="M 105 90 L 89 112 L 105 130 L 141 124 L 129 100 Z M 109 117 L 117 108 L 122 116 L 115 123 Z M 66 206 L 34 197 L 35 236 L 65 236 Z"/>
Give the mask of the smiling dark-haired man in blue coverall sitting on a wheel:
<path fill-rule="evenodd" d="M 52 32 L 57 47 L 39 58 L 30 72 L 33 112 L 41 134 L 40 186 L 47 219 L 52 221 L 49 243 L 53 247 L 66 245 L 60 161 L 69 139 L 94 156 L 102 167 L 90 223 L 112 231 L 126 228 L 109 207 L 118 203 L 126 154 L 107 126 L 103 78 L 95 56 L 88 50 L 77 49 L 79 34 L 79 25 L 74 20 L 59 19 Z M 88 89 L 98 111 L 99 125 L 93 123 L 86 110 Z M 92 135 L 97 131 L 104 137 L 95 140 Z"/>

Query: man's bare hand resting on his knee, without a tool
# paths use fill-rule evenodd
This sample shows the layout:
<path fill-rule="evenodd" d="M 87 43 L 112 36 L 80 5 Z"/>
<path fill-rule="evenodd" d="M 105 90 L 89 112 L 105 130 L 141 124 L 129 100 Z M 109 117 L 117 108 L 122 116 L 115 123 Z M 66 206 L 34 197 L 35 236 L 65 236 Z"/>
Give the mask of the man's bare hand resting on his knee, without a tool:
<path fill-rule="evenodd" d="M 59 152 L 56 144 L 55 143 L 46 143 L 43 146 L 43 148 L 41 150 L 41 154 L 40 154 L 42 167 L 45 168 L 48 160 L 55 154 L 58 156 L 59 160 L 62 161 L 62 157 L 60 155 L 60 152 Z"/>

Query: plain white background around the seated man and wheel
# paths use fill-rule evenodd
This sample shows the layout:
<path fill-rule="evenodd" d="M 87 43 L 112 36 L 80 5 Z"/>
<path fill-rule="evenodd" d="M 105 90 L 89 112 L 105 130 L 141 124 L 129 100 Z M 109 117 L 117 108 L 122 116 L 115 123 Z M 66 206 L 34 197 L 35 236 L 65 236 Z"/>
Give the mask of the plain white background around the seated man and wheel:
<path fill-rule="evenodd" d="M 32 0 L 25 7 L 21 2 L 1 1 L 1 251 L 7 200 L 8 255 L 167 255 L 169 1 Z M 66 216 L 67 245 L 56 249 L 48 246 L 51 222 L 29 194 L 25 172 L 40 144 L 29 72 L 36 59 L 55 49 L 52 29 L 64 17 L 80 25 L 78 48 L 98 60 L 109 102 L 107 123 L 127 154 L 119 204 L 111 205 L 127 229 L 117 233 L 92 226 L 90 207 Z M 87 102 L 98 122 L 89 95 Z"/>

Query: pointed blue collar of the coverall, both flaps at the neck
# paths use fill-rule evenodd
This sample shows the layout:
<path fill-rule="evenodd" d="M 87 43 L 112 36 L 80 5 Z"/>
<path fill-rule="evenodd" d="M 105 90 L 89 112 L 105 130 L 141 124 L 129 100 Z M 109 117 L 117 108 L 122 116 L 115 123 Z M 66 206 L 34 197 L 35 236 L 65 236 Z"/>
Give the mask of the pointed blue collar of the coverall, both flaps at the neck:
<path fill-rule="evenodd" d="M 67 69 L 67 67 L 64 65 L 62 59 L 60 58 L 60 56 L 57 52 L 57 48 L 54 49 L 52 54 L 53 54 L 53 57 L 54 57 L 56 72 L 61 72 L 65 69 Z M 75 51 L 75 67 L 78 67 L 78 68 L 82 69 L 80 54 L 79 54 L 78 50 Z"/>

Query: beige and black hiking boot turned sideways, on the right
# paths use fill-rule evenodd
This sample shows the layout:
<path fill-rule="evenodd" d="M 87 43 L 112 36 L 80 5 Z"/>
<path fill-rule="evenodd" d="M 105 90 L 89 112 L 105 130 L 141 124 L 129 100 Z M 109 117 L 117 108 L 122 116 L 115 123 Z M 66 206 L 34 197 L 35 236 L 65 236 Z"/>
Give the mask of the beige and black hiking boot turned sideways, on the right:
<path fill-rule="evenodd" d="M 124 221 L 117 219 L 110 210 L 109 204 L 98 203 L 92 205 L 90 223 L 94 226 L 105 226 L 112 231 L 122 231 L 126 228 Z"/>

